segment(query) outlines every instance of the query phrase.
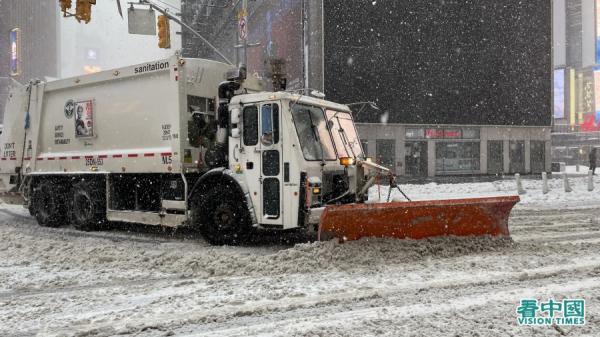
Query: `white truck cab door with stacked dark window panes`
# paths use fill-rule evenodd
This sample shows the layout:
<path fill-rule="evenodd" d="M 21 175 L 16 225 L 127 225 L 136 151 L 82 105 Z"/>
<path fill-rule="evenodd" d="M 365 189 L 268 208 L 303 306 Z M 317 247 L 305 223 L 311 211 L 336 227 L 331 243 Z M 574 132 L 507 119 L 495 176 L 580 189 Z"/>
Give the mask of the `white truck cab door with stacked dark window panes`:
<path fill-rule="evenodd" d="M 246 174 L 249 185 L 256 186 L 251 193 L 258 222 L 265 225 L 283 225 L 280 114 L 274 102 L 245 106 L 243 111 Z"/>

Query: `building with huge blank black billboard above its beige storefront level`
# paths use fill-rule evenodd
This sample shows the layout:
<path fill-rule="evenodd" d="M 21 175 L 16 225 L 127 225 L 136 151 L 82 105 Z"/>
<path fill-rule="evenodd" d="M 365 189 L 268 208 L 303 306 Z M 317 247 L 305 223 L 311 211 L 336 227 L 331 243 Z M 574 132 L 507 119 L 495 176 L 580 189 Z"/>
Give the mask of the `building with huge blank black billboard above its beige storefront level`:
<path fill-rule="evenodd" d="M 325 93 L 397 174 L 549 171 L 551 6 L 325 1 Z"/>

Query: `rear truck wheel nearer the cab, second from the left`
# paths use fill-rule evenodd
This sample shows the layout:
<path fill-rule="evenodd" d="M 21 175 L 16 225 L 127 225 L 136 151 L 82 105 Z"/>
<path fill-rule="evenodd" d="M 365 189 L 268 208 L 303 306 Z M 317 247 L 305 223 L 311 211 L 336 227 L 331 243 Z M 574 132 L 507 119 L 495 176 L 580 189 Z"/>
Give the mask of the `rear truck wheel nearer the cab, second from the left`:
<path fill-rule="evenodd" d="M 102 184 L 81 181 L 73 186 L 73 227 L 83 231 L 106 224 L 106 194 Z"/>

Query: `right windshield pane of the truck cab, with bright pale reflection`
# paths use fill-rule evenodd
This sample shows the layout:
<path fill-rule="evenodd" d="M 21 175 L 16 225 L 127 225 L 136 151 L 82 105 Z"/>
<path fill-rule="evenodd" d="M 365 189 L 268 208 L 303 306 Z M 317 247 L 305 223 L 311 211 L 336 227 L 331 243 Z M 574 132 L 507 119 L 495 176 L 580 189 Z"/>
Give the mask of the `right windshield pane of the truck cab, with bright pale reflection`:
<path fill-rule="evenodd" d="M 352 116 L 347 112 L 333 110 L 327 110 L 326 115 L 338 156 L 362 158 L 363 152 Z"/>

